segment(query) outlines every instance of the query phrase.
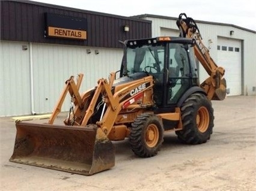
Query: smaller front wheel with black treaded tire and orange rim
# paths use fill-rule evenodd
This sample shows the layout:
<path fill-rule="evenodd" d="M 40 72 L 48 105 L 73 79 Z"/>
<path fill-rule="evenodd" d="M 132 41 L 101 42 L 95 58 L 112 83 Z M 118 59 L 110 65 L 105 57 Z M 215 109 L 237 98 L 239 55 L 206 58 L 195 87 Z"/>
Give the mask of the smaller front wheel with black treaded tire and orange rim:
<path fill-rule="evenodd" d="M 157 154 L 163 143 L 163 125 L 154 114 L 141 114 L 132 123 L 129 144 L 133 153 L 139 157 Z"/>

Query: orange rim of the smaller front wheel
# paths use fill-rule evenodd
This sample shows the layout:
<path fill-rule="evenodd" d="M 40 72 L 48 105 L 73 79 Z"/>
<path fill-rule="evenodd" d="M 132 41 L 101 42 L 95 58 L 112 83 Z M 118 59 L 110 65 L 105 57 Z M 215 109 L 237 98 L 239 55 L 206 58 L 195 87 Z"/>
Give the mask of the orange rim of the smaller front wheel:
<path fill-rule="evenodd" d="M 154 147 L 157 145 L 159 140 L 159 131 L 156 125 L 150 124 L 147 126 L 146 134 L 145 134 L 145 143 L 148 147 Z"/>

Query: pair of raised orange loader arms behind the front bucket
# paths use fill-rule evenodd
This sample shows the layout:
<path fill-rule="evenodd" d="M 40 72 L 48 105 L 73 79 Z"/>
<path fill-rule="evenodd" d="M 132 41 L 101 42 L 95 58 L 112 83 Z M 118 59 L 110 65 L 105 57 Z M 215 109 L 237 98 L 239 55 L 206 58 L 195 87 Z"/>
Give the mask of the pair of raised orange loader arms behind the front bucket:
<path fill-rule="evenodd" d="M 66 99 L 67 92 L 70 93 L 73 104 L 75 105 L 75 109 L 73 113 L 69 113 L 73 122 L 70 119 L 64 120 L 66 125 L 76 125 L 76 126 L 86 126 L 90 117 L 94 114 L 94 108 L 96 107 L 97 100 L 100 95 L 108 95 L 108 100 L 111 102 L 112 108 L 116 107 L 116 101 L 113 99 L 111 94 L 111 86 L 115 79 L 115 72 L 110 74 L 109 83 L 106 79 L 100 79 L 98 81 L 98 86 L 96 89 L 89 90 L 85 93 L 79 94 L 79 88 L 82 83 L 82 78 L 84 74 L 78 75 L 78 82 L 75 83 L 74 77 L 71 76 L 69 80 L 66 81 L 64 89 L 59 96 L 58 102 L 55 105 L 55 108 L 52 112 L 52 116 L 49 119 L 49 124 L 53 124 L 54 120 L 61 112 L 61 107 L 63 105 L 64 100 Z M 105 93 L 106 92 L 106 93 Z M 92 96 L 93 94 L 93 96 Z M 107 100 L 106 96 L 103 96 L 103 101 Z M 108 102 L 108 101 L 106 101 Z"/>

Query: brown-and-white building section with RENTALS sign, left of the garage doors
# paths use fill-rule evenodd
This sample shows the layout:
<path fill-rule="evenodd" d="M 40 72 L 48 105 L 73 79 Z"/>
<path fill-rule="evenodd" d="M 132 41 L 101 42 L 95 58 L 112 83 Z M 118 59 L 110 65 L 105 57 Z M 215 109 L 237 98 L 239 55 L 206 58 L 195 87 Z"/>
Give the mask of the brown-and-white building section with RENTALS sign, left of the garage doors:
<path fill-rule="evenodd" d="M 144 37 L 149 20 L 1 1 L 0 116 L 51 112 L 70 75 L 84 73 L 81 91 L 96 86 L 120 69 L 119 40 Z"/>

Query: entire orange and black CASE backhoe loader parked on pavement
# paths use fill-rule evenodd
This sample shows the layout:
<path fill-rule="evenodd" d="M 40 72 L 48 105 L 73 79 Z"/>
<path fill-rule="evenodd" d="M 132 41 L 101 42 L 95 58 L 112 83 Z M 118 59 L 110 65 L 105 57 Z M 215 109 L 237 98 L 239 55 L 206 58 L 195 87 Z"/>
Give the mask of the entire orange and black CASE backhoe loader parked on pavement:
<path fill-rule="evenodd" d="M 120 76 L 112 72 L 79 93 L 83 74 L 70 77 L 48 123 L 16 122 L 11 162 L 92 175 L 115 165 L 112 141 L 129 138 L 139 157 L 152 157 L 163 133 L 202 144 L 213 131 L 211 100 L 226 96 L 224 68 L 210 57 L 195 21 L 181 13 L 179 37 L 126 40 Z M 209 78 L 200 84 L 195 59 Z M 73 107 L 64 125 L 55 119 L 67 94 Z"/>

